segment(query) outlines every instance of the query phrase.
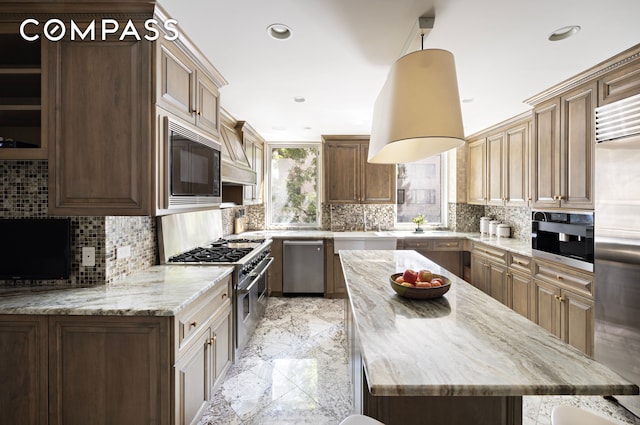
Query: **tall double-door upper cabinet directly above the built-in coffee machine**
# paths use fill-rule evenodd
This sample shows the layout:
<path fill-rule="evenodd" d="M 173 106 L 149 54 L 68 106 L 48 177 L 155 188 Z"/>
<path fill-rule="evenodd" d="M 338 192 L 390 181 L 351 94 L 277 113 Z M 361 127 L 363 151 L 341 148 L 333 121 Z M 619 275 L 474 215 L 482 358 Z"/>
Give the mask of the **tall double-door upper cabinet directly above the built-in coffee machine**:
<path fill-rule="evenodd" d="M 595 82 L 534 110 L 532 191 L 535 208 L 593 209 Z"/>

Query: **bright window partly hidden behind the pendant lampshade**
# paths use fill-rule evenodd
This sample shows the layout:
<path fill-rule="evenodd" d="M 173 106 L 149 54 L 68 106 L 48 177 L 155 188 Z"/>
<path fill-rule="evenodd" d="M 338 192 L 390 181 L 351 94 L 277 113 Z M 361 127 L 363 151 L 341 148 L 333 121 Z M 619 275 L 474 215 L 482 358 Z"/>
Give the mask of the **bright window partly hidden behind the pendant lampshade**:
<path fill-rule="evenodd" d="M 446 226 L 445 155 L 398 164 L 398 225 L 413 226 L 411 219 L 422 214 L 427 224 Z"/>

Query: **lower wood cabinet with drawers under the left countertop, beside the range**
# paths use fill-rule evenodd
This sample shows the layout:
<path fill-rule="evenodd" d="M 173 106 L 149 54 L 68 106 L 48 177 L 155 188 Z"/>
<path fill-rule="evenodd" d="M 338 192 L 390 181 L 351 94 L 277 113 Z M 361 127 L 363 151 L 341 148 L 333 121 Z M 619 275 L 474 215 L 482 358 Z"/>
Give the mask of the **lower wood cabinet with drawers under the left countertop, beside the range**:
<path fill-rule="evenodd" d="M 170 316 L 0 316 L 0 423 L 197 424 L 231 366 L 230 294 L 202 295 L 187 338 Z"/>

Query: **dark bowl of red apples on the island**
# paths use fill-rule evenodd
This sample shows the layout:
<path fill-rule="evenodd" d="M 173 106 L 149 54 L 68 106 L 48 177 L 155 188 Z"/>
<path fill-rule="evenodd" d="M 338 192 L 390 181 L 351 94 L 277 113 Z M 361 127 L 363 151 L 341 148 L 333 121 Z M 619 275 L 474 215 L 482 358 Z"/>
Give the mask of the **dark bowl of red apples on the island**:
<path fill-rule="evenodd" d="M 424 269 L 394 273 L 389 282 L 398 295 L 415 300 L 439 298 L 451 289 L 451 279 Z"/>

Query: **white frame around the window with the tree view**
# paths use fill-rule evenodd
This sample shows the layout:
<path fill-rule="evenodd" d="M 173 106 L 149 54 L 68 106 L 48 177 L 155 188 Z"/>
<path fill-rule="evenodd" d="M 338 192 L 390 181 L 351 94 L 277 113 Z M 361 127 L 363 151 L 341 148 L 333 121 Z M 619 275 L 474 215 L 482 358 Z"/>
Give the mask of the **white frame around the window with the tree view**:
<path fill-rule="evenodd" d="M 323 201 L 323 150 L 322 143 L 320 142 L 268 142 L 265 144 L 266 147 L 266 161 L 268 166 L 265 166 L 267 172 L 267 184 L 265 185 L 265 228 L 268 230 L 271 229 L 306 229 L 306 230 L 316 230 L 322 229 L 322 201 Z M 271 172 L 271 159 L 273 157 L 273 149 L 280 148 L 316 148 L 318 149 L 318 181 L 317 181 L 317 189 L 318 189 L 318 199 L 316 210 L 317 221 L 315 223 L 277 223 L 274 224 L 271 222 L 272 212 L 273 212 L 273 202 L 271 202 L 271 180 L 272 180 L 272 172 Z M 266 165 L 266 164 L 265 164 Z"/>

